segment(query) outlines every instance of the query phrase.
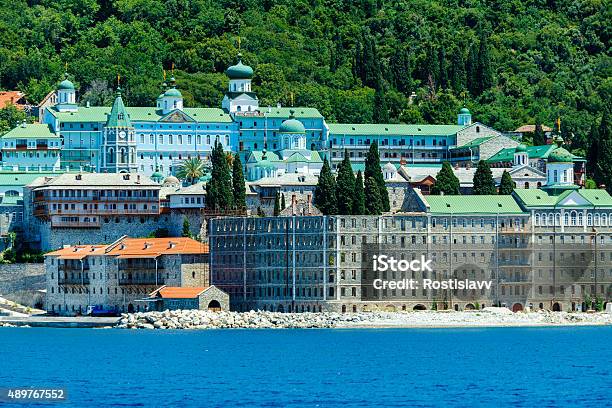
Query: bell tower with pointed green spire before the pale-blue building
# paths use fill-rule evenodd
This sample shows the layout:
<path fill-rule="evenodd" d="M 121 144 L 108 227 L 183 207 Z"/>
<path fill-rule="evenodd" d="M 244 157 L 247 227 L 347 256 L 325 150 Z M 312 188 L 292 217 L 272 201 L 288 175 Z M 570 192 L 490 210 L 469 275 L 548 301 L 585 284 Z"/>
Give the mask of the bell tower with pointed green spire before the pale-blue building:
<path fill-rule="evenodd" d="M 117 87 L 115 102 L 104 126 L 102 171 L 129 173 L 137 170 L 134 126 Z"/>

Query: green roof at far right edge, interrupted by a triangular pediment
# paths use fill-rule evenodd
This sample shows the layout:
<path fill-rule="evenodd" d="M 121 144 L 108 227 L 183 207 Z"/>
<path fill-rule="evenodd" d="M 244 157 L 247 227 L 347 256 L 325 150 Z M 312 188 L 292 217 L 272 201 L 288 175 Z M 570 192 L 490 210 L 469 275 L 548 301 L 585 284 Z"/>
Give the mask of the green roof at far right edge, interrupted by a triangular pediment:
<path fill-rule="evenodd" d="M 546 186 L 548 188 L 548 186 Z M 602 189 L 571 189 L 565 190 L 560 194 L 554 194 L 553 191 L 545 191 L 542 189 L 515 189 L 514 194 L 520 202 L 527 208 L 529 207 L 554 207 L 563 201 L 572 193 L 577 193 L 590 203 L 586 208 L 591 207 L 612 207 L 612 197 L 606 190 Z M 572 207 L 585 207 L 575 206 Z"/>

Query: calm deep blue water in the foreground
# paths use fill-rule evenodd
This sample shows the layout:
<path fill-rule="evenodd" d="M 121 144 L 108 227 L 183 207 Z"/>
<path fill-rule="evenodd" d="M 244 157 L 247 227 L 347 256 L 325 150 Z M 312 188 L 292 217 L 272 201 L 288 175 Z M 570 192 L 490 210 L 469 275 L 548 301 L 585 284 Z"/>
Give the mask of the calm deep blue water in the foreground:
<path fill-rule="evenodd" d="M 67 389 L 47 407 L 599 408 L 611 371 L 612 327 L 0 328 L 0 387 Z"/>

